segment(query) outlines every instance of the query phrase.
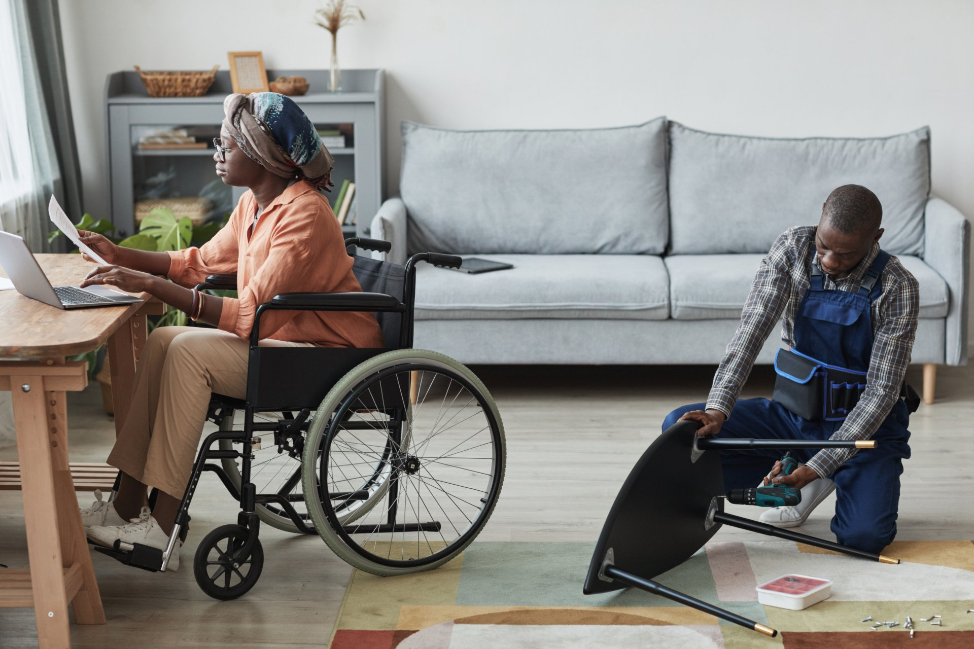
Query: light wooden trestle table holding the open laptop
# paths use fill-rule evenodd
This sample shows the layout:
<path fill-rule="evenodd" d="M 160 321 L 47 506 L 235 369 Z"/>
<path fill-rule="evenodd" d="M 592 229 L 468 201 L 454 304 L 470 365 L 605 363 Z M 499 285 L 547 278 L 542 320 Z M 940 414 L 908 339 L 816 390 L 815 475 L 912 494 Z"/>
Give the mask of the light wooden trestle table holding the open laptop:
<path fill-rule="evenodd" d="M 93 268 L 80 255 L 36 257 L 55 286 L 77 284 Z M 85 389 L 88 364 L 65 356 L 107 341 L 117 434 L 129 413 L 145 316 L 164 310 L 154 299 L 62 310 L 0 291 L 0 390 L 13 394 L 19 457 L 19 472 L 8 467 L 0 488 L 22 489 L 30 558 L 29 570 L 0 568 L 0 606 L 34 608 L 40 647 L 70 646 L 69 601 L 78 624 L 105 623 L 72 482 L 73 468 L 81 482 L 98 484 L 90 478 L 105 465 L 68 463 L 65 392 Z"/>

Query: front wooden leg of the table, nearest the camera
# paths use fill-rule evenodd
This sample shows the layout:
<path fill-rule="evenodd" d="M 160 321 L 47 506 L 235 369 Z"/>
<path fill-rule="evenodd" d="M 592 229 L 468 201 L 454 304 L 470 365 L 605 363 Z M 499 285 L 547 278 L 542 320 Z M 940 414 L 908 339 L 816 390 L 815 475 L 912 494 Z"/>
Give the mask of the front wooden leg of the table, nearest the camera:
<path fill-rule="evenodd" d="M 27 527 L 30 577 L 34 592 L 34 617 L 40 647 L 68 647 L 67 595 L 64 590 L 64 558 L 58 534 L 52 443 L 45 420 L 44 379 L 22 376 L 13 388 L 14 422 L 17 426 L 23 518 Z M 72 494 L 73 497 L 73 494 Z M 91 558 L 89 558 L 91 561 Z"/>

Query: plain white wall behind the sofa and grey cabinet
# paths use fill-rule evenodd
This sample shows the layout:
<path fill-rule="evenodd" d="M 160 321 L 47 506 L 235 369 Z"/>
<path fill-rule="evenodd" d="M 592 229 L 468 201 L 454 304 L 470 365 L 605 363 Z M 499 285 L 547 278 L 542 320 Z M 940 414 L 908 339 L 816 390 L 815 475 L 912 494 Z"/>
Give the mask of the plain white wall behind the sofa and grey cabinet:
<path fill-rule="evenodd" d="M 325 68 L 318 0 L 61 0 L 87 209 L 107 211 L 105 75 Z M 565 127 L 666 115 L 768 136 L 933 131 L 933 191 L 974 216 L 974 2 L 966 0 L 359 0 L 344 67 L 388 71 L 398 125 Z M 583 170 L 580 170 L 583 171 Z M 583 178 L 581 179 L 583 183 Z M 974 318 L 972 318 L 974 321 Z"/>

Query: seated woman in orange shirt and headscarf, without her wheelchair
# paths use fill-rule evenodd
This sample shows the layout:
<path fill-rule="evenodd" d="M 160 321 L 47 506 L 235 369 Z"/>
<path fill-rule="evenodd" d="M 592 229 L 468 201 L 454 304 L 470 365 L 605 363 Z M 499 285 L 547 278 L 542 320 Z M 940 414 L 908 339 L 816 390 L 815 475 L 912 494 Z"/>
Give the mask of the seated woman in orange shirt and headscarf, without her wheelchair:
<path fill-rule="evenodd" d="M 315 126 L 297 104 L 274 92 L 232 94 L 224 112 L 214 140 L 216 175 L 249 191 L 210 241 L 145 252 L 82 233 L 112 266 L 97 267 L 81 286 L 145 291 L 216 327 L 159 327 L 145 343 L 131 411 L 108 456 L 121 470 L 118 491 L 111 502 L 98 493 L 93 507 L 82 510 L 89 538 L 106 547 L 116 541 L 167 547 L 210 393 L 244 399 L 247 339 L 257 307 L 284 293 L 361 290 L 341 227 L 319 192 L 331 184 L 332 159 Z M 237 273 L 239 297 L 193 288 L 213 273 Z M 383 346 L 375 316 L 364 311 L 273 310 L 260 322 L 260 336 L 262 346 Z M 159 490 L 151 511 L 147 487 Z M 169 552 L 169 570 L 178 566 L 179 545 Z"/>

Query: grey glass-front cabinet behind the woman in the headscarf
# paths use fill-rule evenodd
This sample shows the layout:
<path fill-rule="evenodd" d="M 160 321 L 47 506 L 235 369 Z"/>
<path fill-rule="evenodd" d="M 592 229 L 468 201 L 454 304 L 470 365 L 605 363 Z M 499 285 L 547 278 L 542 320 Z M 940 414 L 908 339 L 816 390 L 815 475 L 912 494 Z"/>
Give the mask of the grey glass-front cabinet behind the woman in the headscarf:
<path fill-rule="evenodd" d="M 342 70 L 342 92 L 327 92 L 327 70 L 268 70 L 270 79 L 301 75 L 311 85 L 307 94 L 293 96 L 319 129 L 339 129 L 344 148 L 329 148 L 335 159 L 328 196 L 334 202 L 345 179 L 356 183 L 356 226 L 343 226 L 347 235 L 361 234 L 382 202 L 382 152 L 385 143 L 385 74 L 379 70 Z M 213 172 L 211 138 L 219 134 L 223 99 L 233 90 L 230 74 L 216 73 L 204 96 L 150 97 L 134 71 L 114 72 L 105 84 L 111 221 L 116 234 L 128 236 L 137 229 L 134 205 L 140 198 L 198 196 L 210 190 Z M 188 128 L 205 149 L 153 149 L 138 147 L 140 138 L 153 131 Z M 225 204 L 236 205 L 243 188 L 232 188 Z M 224 196 L 221 194 L 221 196 Z M 335 211 L 338 206 L 333 205 Z"/>

